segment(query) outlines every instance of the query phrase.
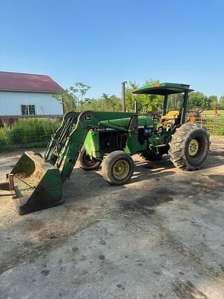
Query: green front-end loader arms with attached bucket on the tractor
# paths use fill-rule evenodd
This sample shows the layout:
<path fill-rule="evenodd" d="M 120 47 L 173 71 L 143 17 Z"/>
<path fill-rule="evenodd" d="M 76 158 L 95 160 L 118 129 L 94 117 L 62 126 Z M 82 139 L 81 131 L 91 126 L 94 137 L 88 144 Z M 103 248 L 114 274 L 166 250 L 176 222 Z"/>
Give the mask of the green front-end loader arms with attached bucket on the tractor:
<path fill-rule="evenodd" d="M 19 215 L 59 205 L 63 202 L 63 183 L 71 176 L 88 131 L 99 129 L 104 121 L 130 120 L 132 116 L 119 112 L 68 112 L 44 156 L 24 152 L 0 188 L 10 190 Z"/>

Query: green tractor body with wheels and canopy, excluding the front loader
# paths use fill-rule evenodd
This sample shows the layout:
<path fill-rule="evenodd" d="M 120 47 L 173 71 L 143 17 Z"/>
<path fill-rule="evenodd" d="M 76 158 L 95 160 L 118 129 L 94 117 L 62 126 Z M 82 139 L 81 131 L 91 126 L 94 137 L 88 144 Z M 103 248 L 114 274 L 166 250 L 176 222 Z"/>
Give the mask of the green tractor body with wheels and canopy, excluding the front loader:
<path fill-rule="evenodd" d="M 209 134 L 198 123 L 185 123 L 187 84 L 147 84 L 134 94 L 164 96 L 162 115 L 132 114 L 127 118 L 105 120 L 100 129 L 91 129 L 80 154 L 80 166 L 95 170 L 102 163 L 104 179 L 113 185 L 126 183 L 133 174 L 133 154 L 147 161 L 156 161 L 169 154 L 174 166 L 196 170 L 209 153 Z M 181 111 L 167 113 L 169 95 L 183 93 Z"/>

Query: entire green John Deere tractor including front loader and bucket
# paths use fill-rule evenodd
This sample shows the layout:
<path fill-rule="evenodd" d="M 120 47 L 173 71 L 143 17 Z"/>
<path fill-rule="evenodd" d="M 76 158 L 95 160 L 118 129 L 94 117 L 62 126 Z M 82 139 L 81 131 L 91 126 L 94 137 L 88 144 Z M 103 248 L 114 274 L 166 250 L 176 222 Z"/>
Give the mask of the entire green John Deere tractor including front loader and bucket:
<path fill-rule="evenodd" d="M 80 155 L 84 170 L 102 163 L 102 176 L 112 185 L 127 183 L 133 174 L 133 154 L 147 161 L 168 154 L 174 166 L 196 170 L 209 153 L 209 134 L 197 123 L 185 122 L 187 84 L 148 84 L 134 94 L 164 97 L 162 115 L 124 112 L 68 112 L 53 134 L 44 156 L 25 152 L 10 174 L 8 188 L 19 214 L 63 202 L 62 184 L 71 176 Z M 169 95 L 183 93 L 180 111 L 168 111 Z"/>

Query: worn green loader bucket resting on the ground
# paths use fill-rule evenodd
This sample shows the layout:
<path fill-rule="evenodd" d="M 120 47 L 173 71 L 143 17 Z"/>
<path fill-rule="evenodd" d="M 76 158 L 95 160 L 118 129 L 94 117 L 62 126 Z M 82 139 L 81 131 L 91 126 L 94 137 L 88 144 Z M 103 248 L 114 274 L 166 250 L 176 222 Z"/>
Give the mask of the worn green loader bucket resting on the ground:
<path fill-rule="evenodd" d="M 19 215 L 63 203 L 59 169 L 44 161 L 41 154 L 24 152 L 8 179 L 11 193 L 15 190 L 12 200 Z"/>

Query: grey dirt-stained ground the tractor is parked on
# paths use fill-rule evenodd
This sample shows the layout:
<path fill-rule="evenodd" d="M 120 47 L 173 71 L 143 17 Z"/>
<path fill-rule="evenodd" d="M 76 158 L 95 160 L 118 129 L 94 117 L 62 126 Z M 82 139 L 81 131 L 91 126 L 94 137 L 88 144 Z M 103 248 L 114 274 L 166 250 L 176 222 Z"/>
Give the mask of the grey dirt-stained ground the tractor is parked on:
<path fill-rule="evenodd" d="M 223 138 L 196 172 L 133 158 L 127 185 L 76 167 L 64 205 L 29 215 L 0 192 L 0 298 L 224 298 Z"/>

